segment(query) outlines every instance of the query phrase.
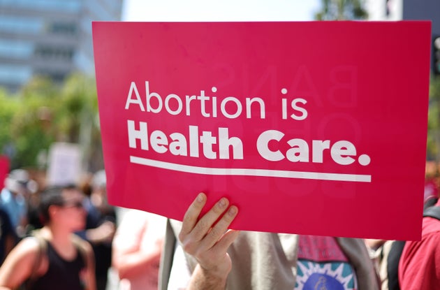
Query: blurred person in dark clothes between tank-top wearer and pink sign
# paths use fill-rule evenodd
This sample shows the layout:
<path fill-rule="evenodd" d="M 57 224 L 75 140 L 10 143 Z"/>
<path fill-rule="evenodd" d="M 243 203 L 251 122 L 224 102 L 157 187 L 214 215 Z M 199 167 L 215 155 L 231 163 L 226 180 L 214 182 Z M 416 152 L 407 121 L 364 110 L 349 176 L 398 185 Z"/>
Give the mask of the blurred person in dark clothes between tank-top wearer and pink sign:
<path fill-rule="evenodd" d="M 116 231 L 115 208 L 107 201 L 105 171 L 96 172 L 81 187 L 87 196 L 84 201 L 87 222 L 85 231 L 77 234 L 93 247 L 96 257 L 96 289 L 105 290 L 112 264 L 112 240 Z"/>

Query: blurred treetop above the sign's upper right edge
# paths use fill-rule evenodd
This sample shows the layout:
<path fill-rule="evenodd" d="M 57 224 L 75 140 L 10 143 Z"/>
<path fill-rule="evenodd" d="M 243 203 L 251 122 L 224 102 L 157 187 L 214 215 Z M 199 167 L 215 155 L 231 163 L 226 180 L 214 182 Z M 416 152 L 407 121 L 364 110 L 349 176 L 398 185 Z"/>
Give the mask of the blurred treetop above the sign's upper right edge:
<path fill-rule="evenodd" d="M 316 20 L 364 20 L 368 13 L 364 0 L 322 0 Z"/>

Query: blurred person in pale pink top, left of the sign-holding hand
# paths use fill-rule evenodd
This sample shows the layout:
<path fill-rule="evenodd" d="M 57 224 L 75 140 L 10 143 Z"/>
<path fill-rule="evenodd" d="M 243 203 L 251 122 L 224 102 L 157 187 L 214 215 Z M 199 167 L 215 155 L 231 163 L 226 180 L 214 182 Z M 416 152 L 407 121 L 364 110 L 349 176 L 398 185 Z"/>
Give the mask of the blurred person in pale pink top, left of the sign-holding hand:
<path fill-rule="evenodd" d="M 120 290 L 158 289 L 165 230 L 165 217 L 141 210 L 124 214 L 113 240 L 112 256 Z"/>

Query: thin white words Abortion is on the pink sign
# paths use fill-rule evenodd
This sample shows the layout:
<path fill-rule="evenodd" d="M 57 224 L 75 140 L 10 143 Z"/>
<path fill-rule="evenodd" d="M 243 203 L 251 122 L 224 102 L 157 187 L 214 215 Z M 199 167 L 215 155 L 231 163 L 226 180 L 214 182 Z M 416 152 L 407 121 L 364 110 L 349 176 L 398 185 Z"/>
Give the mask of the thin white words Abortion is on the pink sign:
<path fill-rule="evenodd" d="M 212 93 L 217 93 L 217 87 L 211 88 Z M 286 95 L 287 89 L 281 89 L 281 94 Z M 235 96 L 227 96 L 221 100 L 217 96 L 207 96 L 204 90 L 200 90 L 200 94 L 186 95 L 183 99 L 177 94 L 168 94 L 165 98 L 157 92 L 150 92 L 149 81 L 145 81 L 145 103 L 142 101 L 139 89 L 135 82 L 131 82 L 129 94 L 126 99 L 125 109 L 129 110 L 131 106 L 137 106 L 142 112 L 161 113 L 166 111 L 170 115 L 186 114 L 190 116 L 191 103 L 196 103 L 200 107 L 200 114 L 203 117 L 217 117 L 219 114 L 228 119 L 240 117 L 245 110 L 247 119 L 254 117 L 251 115 L 251 108 L 256 106 L 259 111 L 258 117 L 265 119 L 265 103 L 259 97 L 246 98 L 244 105 L 240 99 Z M 287 99 L 281 100 L 282 119 L 291 117 L 295 120 L 303 120 L 307 118 L 307 110 L 304 108 L 307 101 L 302 98 L 296 98 L 291 101 L 291 108 L 288 108 Z M 244 109 L 243 109 L 244 106 Z M 288 110 L 291 113 L 288 116 Z"/>

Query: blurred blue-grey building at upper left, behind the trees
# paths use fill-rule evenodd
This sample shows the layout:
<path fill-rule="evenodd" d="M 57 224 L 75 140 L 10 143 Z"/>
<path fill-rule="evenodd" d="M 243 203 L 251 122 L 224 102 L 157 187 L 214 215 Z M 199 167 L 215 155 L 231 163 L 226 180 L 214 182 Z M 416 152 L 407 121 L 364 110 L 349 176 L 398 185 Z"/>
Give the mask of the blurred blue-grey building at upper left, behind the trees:
<path fill-rule="evenodd" d="M 94 73 L 91 21 L 121 20 L 122 0 L 0 0 L 0 86 L 33 75 Z"/>

